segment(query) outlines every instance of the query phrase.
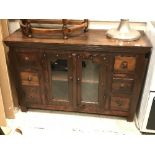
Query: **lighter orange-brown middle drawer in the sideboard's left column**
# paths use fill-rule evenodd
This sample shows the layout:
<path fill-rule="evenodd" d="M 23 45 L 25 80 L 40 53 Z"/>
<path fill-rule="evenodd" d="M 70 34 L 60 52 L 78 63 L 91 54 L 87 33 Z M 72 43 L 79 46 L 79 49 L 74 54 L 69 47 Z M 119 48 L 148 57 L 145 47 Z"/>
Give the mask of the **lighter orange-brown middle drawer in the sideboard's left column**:
<path fill-rule="evenodd" d="M 35 72 L 20 72 L 20 81 L 22 85 L 39 86 L 39 75 Z"/>

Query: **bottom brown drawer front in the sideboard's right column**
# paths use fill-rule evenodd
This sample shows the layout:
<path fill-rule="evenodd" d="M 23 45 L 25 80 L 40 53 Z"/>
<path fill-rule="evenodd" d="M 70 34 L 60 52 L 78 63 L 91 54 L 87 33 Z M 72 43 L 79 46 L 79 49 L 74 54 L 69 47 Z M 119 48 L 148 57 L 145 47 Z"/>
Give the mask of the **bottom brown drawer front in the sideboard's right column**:
<path fill-rule="evenodd" d="M 111 110 L 128 111 L 129 110 L 129 97 L 111 97 Z"/>

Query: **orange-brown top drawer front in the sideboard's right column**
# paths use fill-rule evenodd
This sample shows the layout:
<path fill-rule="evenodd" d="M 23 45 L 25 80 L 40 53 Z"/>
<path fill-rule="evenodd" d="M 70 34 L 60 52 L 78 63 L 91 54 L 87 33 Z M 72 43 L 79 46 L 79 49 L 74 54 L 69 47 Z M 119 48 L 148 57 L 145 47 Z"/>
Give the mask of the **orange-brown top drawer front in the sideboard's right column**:
<path fill-rule="evenodd" d="M 115 56 L 114 71 L 134 72 L 136 67 L 136 57 Z"/>

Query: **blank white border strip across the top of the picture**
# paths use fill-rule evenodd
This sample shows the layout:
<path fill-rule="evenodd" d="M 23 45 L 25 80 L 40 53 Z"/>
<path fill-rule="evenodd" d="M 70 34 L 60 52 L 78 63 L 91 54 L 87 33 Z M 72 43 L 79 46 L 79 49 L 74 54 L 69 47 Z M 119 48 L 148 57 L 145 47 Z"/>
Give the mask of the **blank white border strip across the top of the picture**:
<path fill-rule="evenodd" d="M 155 20 L 154 0 L 44 0 L 27 1 L 5 0 L 1 3 L 0 18 L 86 18 L 101 21 Z M 8 5 L 9 4 L 9 5 Z M 8 11 L 6 11 L 6 8 Z M 7 16 L 5 15 L 7 14 Z"/>

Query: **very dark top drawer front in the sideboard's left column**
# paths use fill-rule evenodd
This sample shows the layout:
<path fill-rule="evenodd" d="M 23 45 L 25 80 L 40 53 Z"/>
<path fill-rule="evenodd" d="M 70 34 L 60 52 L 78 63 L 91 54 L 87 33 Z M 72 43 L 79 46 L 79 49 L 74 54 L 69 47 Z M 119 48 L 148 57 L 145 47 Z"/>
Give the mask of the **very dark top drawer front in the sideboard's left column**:
<path fill-rule="evenodd" d="M 17 58 L 18 58 L 19 65 L 31 66 L 31 67 L 40 66 L 39 54 L 32 53 L 32 52 L 21 52 L 21 53 L 17 53 Z"/>

